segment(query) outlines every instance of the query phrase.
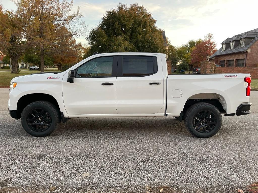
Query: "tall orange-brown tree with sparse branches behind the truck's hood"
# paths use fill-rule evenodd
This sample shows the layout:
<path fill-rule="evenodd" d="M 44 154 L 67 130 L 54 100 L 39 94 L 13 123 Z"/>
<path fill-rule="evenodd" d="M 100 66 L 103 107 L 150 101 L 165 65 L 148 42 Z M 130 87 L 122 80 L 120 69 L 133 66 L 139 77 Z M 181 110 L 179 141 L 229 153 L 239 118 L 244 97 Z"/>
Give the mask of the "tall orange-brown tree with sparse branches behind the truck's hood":
<path fill-rule="evenodd" d="M 41 72 L 46 55 L 69 54 L 75 43 L 73 37 L 85 33 L 79 8 L 71 13 L 72 1 L 15 0 L 15 3 L 25 26 L 27 44 L 40 57 Z"/>

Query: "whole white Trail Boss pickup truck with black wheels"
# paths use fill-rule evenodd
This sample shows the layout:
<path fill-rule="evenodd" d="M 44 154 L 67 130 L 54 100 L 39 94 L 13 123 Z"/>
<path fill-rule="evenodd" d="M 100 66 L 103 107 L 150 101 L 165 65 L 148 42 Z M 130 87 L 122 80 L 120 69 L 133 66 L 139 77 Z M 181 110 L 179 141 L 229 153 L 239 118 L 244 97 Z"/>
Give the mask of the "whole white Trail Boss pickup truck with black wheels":
<path fill-rule="evenodd" d="M 65 72 L 13 78 L 8 107 L 33 136 L 82 117 L 175 117 L 197 137 L 251 113 L 250 74 L 167 74 L 165 54 L 92 55 Z M 158 128 L 157 128 L 158 129 Z"/>

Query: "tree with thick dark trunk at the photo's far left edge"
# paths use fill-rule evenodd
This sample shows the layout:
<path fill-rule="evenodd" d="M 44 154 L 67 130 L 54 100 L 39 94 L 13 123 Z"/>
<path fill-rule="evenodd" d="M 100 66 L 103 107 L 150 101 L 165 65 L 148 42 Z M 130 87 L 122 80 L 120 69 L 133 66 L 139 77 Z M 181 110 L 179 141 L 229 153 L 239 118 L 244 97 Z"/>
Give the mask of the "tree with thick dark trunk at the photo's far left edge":
<path fill-rule="evenodd" d="M 0 6 L 0 51 L 11 58 L 11 74 L 18 74 L 18 60 L 25 48 L 24 29 L 17 12 L 3 12 Z"/>

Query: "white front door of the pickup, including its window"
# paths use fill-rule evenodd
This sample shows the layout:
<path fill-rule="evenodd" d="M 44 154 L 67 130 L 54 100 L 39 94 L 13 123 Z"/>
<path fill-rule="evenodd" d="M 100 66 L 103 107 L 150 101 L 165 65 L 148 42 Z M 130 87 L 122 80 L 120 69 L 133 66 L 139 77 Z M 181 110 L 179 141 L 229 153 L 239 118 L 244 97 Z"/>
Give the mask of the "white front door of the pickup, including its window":
<path fill-rule="evenodd" d="M 68 115 L 117 114 L 117 59 L 116 55 L 87 61 L 75 69 L 74 83 L 68 83 L 65 74 L 62 92 Z"/>

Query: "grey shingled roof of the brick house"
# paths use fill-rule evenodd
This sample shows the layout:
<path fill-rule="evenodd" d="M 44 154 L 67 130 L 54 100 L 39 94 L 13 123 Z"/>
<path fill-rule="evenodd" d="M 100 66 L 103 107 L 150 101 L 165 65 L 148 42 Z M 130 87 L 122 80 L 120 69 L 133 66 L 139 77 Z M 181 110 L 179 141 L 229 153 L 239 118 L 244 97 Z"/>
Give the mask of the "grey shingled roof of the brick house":
<path fill-rule="evenodd" d="M 258 28 L 251 30 L 251 31 L 244 32 L 244 33 L 237 34 L 237 35 L 233 36 L 232 38 L 227 38 L 226 39 L 227 41 L 224 40 L 221 44 L 229 43 L 232 41 L 239 41 L 240 39 L 244 39 L 244 38 L 252 38 L 252 40 L 245 47 L 240 48 L 240 44 L 239 44 L 236 48 L 234 48 L 234 49 L 227 48 L 225 51 L 222 51 L 222 47 L 221 47 L 210 58 L 213 58 L 214 56 L 219 56 L 219 55 L 247 51 L 250 48 L 250 46 L 252 46 L 253 43 L 258 40 Z"/>

